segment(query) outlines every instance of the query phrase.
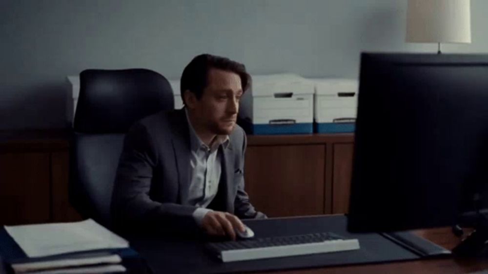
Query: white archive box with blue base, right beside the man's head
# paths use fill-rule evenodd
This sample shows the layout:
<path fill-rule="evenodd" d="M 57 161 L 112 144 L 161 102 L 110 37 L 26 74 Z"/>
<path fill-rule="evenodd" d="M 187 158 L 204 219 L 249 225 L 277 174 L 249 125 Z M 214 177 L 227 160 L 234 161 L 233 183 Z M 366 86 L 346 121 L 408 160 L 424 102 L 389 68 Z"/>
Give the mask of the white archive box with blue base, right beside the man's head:
<path fill-rule="evenodd" d="M 313 132 L 314 84 L 297 74 L 253 75 L 240 120 L 254 134 Z"/>

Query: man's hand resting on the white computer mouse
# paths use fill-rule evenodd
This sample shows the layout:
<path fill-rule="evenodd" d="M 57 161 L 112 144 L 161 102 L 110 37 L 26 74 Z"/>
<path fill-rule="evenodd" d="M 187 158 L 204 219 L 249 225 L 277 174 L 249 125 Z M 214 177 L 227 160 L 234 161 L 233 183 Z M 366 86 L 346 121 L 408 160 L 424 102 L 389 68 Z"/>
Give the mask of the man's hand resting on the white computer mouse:
<path fill-rule="evenodd" d="M 228 236 L 236 239 L 235 229 L 244 232 L 244 224 L 235 215 L 221 211 L 210 211 L 202 219 L 203 230 L 211 236 Z"/>

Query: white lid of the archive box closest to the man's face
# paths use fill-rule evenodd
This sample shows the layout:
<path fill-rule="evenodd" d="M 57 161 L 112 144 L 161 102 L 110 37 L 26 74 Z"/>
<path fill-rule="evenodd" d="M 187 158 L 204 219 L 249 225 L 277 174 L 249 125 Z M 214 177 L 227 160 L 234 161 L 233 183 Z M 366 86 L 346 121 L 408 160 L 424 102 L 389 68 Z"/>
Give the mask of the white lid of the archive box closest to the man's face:
<path fill-rule="evenodd" d="M 313 94 L 314 84 L 309 79 L 293 73 L 252 75 L 252 96 L 280 94 Z"/>

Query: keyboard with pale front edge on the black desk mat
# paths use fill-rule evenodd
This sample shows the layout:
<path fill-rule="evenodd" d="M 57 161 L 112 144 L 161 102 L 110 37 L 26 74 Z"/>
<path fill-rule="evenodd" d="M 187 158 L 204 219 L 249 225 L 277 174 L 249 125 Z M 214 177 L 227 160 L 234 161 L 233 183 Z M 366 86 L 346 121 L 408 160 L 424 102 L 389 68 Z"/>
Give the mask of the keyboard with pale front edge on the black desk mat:
<path fill-rule="evenodd" d="M 324 232 L 207 243 L 206 248 L 223 262 L 297 256 L 359 249 L 357 239 Z"/>

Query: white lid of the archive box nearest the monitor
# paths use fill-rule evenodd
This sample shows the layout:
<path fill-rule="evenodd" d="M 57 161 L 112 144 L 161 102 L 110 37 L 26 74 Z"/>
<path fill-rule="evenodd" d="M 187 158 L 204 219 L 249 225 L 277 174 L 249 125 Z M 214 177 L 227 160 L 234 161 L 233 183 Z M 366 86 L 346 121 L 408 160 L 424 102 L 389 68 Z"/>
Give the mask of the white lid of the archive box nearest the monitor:
<path fill-rule="evenodd" d="M 337 95 L 339 92 L 359 91 L 359 81 L 347 78 L 316 78 L 310 79 L 315 84 L 315 94 L 317 95 Z"/>

